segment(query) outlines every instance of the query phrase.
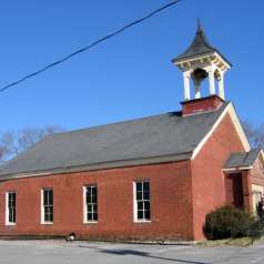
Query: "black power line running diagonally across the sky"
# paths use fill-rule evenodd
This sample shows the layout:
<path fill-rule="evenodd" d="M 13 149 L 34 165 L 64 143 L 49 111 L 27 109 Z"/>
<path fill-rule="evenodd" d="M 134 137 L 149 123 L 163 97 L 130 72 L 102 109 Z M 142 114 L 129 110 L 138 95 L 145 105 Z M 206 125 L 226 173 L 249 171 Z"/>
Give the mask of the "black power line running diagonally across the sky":
<path fill-rule="evenodd" d="M 110 33 L 110 34 L 108 34 L 108 35 L 105 35 L 105 37 L 102 37 L 102 38 L 95 40 L 95 41 L 92 42 L 91 44 L 89 44 L 89 45 L 87 45 L 87 47 L 84 47 L 84 48 L 82 48 L 82 49 L 79 49 L 79 50 L 77 50 L 77 51 L 74 51 L 74 52 L 72 52 L 72 53 L 70 53 L 70 54 L 68 54 L 68 55 L 65 55 L 64 58 L 62 58 L 62 59 L 60 59 L 60 60 L 58 60 L 58 61 L 55 61 L 55 62 L 53 62 L 53 63 L 51 63 L 51 64 L 48 64 L 48 65 L 45 65 L 44 68 L 42 68 L 42 69 L 40 69 L 40 70 L 38 70 L 38 71 L 35 71 L 35 72 L 29 74 L 29 75 L 26 75 L 26 77 L 19 79 L 19 80 L 16 81 L 16 82 L 12 82 L 12 83 L 10 83 L 10 84 L 8 84 L 8 85 L 1 88 L 1 89 L 0 89 L 0 92 L 3 92 L 3 91 L 8 90 L 8 89 L 11 88 L 11 87 L 14 87 L 14 85 L 17 85 L 17 84 L 19 84 L 19 83 L 21 83 L 21 82 L 24 82 L 26 80 L 28 80 L 28 79 L 30 79 L 30 78 L 33 78 L 33 77 L 35 77 L 35 75 L 38 75 L 38 74 L 40 74 L 40 73 L 42 73 L 42 72 L 44 72 L 44 71 L 47 71 L 47 70 L 49 70 L 50 68 L 53 68 L 53 67 L 55 67 L 55 65 L 58 65 L 58 64 L 63 63 L 64 61 L 71 59 L 72 57 L 78 55 L 78 54 L 80 54 L 80 53 L 82 53 L 82 52 L 84 52 L 84 51 L 87 51 L 87 50 L 89 50 L 89 49 L 91 49 L 91 48 L 98 45 L 99 43 L 101 43 L 101 42 L 103 42 L 103 41 L 105 41 L 105 40 L 109 40 L 109 39 L 115 37 L 116 34 L 122 33 L 123 31 L 128 30 L 129 28 L 134 27 L 134 26 L 136 26 L 136 24 L 139 24 L 139 23 L 142 23 L 143 21 L 150 19 L 151 17 L 153 17 L 153 16 L 160 13 L 161 11 L 163 11 L 163 10 L 165 10 L 165 9 L 167 9 L 167 8 L 171 8 L 172 6 L 176 4 L 176 3 L 180 2 L 180 1 L 181 1 L 181 0 L 176 0 L 176 1 L 170 2 L 170 3 L 165 4 L 165 6 L 162 6 L 161 8 L 159 8 L 159 9 L 156 9 L 156 10 L 152 11 L 151 13 L 144 16 L 143 18 L 138 19 L 138 20 L 135 20 L 135 21 L 133 21 L 133 22 L 131 22 L 131 23 L 124 26 L 123 28 L 121 28 L 121 29 L 119 29 L 119 30 L 116 30 L 116 31 L 114 31 L 114 32 L 112 32 L 112 33 Z"/>

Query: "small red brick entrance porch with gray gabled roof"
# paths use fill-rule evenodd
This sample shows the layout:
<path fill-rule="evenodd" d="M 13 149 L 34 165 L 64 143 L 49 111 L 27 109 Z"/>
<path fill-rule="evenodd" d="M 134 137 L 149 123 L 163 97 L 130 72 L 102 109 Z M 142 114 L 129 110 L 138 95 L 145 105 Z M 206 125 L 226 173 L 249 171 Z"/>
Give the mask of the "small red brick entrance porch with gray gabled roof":
<path fill-rule="evenodd" d="M 231 153 L 223 169 L 225 175 L 226 204 L 257 214 L 264 195 L 264 152 Z"/>

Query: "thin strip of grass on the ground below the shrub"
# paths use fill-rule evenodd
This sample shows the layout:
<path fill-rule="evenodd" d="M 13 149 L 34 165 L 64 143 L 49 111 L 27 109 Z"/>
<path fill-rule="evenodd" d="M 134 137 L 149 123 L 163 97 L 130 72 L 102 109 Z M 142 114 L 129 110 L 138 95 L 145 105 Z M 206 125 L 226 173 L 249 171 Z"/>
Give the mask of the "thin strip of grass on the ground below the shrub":
<path fill-rule="evenodd" d="M 215 246 L 237 246 L 245 247 L 254 243 L 251 237 L 241 237 L 241 238 L 229 238 L 229 240 L 216 240 L 216 241 L 201 241 L 197 242 L 197 246 L 201 247 L 215 247 Z"/>

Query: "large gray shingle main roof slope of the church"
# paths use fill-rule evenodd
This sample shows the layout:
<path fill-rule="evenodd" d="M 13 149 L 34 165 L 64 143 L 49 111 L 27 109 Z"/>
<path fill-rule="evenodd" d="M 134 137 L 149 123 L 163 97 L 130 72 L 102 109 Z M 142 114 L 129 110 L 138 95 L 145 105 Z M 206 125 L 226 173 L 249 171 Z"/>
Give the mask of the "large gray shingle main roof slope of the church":
<path fill-rule="evenodd" d="M 226 106 L 189 116 L 172 112 L 54 134 L 2 165 L 0 176 L 94 164 L 108 167 L 111 162 L 167 155 L 189 159 Z"/>

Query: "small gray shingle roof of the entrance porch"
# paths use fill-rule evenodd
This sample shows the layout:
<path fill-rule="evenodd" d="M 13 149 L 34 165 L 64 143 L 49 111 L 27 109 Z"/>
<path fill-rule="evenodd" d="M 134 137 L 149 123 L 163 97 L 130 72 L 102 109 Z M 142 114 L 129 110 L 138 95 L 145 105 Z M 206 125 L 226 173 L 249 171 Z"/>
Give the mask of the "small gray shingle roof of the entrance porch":
<path fill-rule="evenodd" d="M 252 166 L 258 156 L 261 149 L 253 149 L 248 152 L 231 153 L 225 162 L 224 169 L 237 169 Z"/>

